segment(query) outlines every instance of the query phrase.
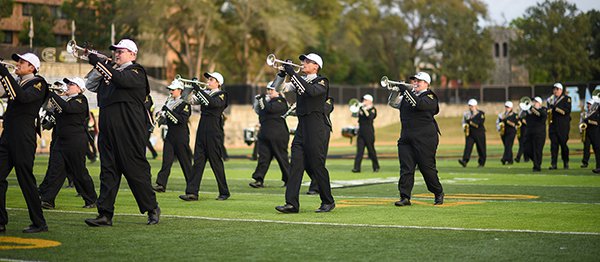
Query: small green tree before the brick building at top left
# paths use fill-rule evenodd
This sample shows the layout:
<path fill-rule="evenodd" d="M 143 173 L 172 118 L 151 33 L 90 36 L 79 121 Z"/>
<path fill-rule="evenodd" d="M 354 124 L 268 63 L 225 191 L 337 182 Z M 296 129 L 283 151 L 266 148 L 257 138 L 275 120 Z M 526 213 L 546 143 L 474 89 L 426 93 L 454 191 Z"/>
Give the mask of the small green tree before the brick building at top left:
<path fill-rule="evenodd" d="M 50 7 L 45 5 L 33 5 L 31 16 L 33 17 L 33 46 L 60 46 L 62 43 L 56 42 L 56 37 L 52 33 L 55 18 L 51 13 Z M 23 23 L 23 30 L 19 32 L 19 42 L 29 43 L 30 20 Z"/>

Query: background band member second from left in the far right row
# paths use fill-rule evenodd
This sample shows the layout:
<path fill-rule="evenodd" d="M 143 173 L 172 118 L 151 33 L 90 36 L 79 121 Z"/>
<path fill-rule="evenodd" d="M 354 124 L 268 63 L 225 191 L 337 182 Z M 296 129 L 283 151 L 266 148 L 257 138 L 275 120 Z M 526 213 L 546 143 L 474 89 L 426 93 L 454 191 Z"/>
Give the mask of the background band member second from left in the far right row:
<path fill-rule="evenodd" d="M 502 144 L 504 145 L 504 154 L 502 155 L 502 165 L 509 164 L 512 165 L 512 146 L 515 142 L 515 135 L 517 134 L 517 114 L 512 111 L 513 103 L 511 101 L 506 101 L 504 103 L 504 113 L 498 114 L 498 119 L 496 120 L 496 127 L 498 132 L 500 132 L 500 138 L 502 139 Z"/>

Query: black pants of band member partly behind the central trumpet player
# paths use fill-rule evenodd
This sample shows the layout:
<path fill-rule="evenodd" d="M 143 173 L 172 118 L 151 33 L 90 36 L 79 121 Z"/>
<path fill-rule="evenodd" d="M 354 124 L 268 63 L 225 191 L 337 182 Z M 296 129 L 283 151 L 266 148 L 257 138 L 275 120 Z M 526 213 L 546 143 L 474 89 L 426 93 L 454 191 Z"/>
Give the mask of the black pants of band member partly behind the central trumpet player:
<path fill-rule="evenodd" d="M 281 181 L 287 183 L 290 176 L 290 162 L 287 151 L 288 142 L 289 135 L 287 133 L 285 137 L 263 137 L 260 139 L 260 143 L 258 143 L 258 165 L 252 174 L 254 180 L 259 182 L 265 180 L 265 175 L 269 170 L 271 161 L 275 158 L 281 170 Z"/>

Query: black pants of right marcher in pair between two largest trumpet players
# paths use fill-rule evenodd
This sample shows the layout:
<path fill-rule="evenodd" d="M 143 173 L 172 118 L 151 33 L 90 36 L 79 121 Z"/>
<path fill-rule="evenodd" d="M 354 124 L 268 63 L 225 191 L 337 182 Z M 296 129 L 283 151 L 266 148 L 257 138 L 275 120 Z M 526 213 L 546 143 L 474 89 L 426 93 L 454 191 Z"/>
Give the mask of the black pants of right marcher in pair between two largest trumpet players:
<path fill-rule="evenodd" d="M 202 121 L 202 120 L 201 120 Z M 225 177 L 225 167 L 223 166 L 223 134 L 207 134 L 198 129 L 196 133 L 196 145 L 194 147 L 194 166 L 192 167 L 191 180 L 187 181 L 185 189 L 186 194 L 198 195 L 200 183 L 206 167 L 206 161 L 210 162 L 210 167 L 215 174 L 220 196 L 229 196 L 229 187 Z"/>

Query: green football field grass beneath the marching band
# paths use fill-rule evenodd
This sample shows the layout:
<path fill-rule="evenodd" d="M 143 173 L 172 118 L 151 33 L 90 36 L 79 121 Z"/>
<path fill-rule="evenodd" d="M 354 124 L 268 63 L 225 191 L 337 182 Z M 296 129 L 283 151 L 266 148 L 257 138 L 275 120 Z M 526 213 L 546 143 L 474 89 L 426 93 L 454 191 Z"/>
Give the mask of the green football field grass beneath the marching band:
<path fill-rule="evenodd" d="M 546 146 L 548 151 L 549 146 Z M 378 147 L 381 171 L 351 173 L 352 160 L 327 161 L 336 209 L 315 213 L 318 196 L 301 195 L 299 214 L 279 214 L 284 204 L 280 172 L 273 162 L 266 188 L 248 186 L 256 162 L 232 158 L 225 168 L 232 197 L 215 201 L 217 186 L 210 169 L 200 200 L 178 198 L 185 186 L 176 163 L 166 193 L 157 194 L 162 208 L 158 225 L 147 226 L 125 180 L 116 202 L 114 226 L 91 228 L 83 220 L 96 215 L 82 209 L 72 188 L 61 190 L 55 210 L 45 210 L 49 232 L 23 234 L 27 209 L 14 174 L 9 180 L 10 223 L 0 235 L 0 260 L 45 261 L 398 261 L 398 260 L 569 260 L 600 257 L 600 176 L 579 168 L 578 144 L 572 146 L 571 169 L 531 173 L 531 163 L 502 166 L 500 147 L 488 149 L 488 163 L 477 168 L 476 156 L 467 168 L 456 162 L 462 145 L 442 145 L 438 169 L 446 202 L 433 206 L 420 173 L 416 174 L 413 205 L 395 207 L 398 160 L 393 146 Z M 332 148 L 351 155 L 354 148 Z M 548 153 L 548 152 L 546 152 Z M 232 156 L 249 148 L 230 150 Z M 593 159 L 593 156 L 592 156 Z M 150 160 L 153 176 L 160 159 Z M 36 159 L 38 183 L 47 156 Z M 561 165 L 559 165 L 561 167 Z M 88 164 L 99 187 L 99 163 Z M 305 176 L 306 182 L 306 176 Z M 302 188 L 302 193 L 307 187 Z"/>

